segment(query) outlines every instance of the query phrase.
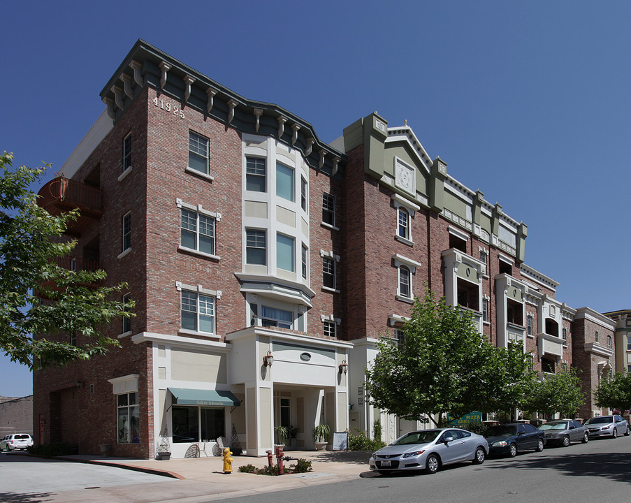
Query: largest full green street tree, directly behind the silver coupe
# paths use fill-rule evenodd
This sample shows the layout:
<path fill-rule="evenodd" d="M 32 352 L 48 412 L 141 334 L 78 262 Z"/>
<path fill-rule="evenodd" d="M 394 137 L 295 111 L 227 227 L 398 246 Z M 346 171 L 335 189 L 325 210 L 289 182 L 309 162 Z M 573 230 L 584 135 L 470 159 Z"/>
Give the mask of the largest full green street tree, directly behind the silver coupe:
<path fill-rule="evenodd" d="M 470 311 L 428 290 L 416 299 L 402 333 L 401 347 L 391 337 L 379 339 L 379 354 L 366 370 L 366 391 L 376 407 L 442 425 L 446 414 L 462 416 L 486 402 L 495 349 L 477 332 Z"/>

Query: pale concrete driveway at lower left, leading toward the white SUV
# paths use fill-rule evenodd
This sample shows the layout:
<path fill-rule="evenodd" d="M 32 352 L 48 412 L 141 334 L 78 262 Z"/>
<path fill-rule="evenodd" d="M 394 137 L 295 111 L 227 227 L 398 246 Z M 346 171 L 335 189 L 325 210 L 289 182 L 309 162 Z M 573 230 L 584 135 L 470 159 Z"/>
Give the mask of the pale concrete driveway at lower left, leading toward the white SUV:
<path fill-rule="evenodd" d="M 88 493 L 91 488 L 175 480 L 128 469 L 45 460 L 17 453 L 0 453 L 0 474 L 0 502 L 36 501 L 34 495 L 43 497 L 59 491 L 80 489 Z M 31 499 L 18 500 L 17 495 L 31 495 Z M 88 494 L 85 499 L 89 500 Z"/>

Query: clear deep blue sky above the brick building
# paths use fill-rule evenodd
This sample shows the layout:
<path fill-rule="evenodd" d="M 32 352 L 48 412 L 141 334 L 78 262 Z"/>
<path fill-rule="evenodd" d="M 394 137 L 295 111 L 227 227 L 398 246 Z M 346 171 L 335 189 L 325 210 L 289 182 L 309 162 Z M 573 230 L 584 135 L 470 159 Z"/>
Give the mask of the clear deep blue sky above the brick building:
<path fill-rule="evenodd" d="M 631 308 L 628 1 L 1 2 L 0 150 L 61 169 L 138 38 L 321 140 L 377 110 L 528 224 L 557 298 Z M 35 187 L 38 189 L 39 187 Z M 28 395 L 0 356 L 0 395 Z"/>

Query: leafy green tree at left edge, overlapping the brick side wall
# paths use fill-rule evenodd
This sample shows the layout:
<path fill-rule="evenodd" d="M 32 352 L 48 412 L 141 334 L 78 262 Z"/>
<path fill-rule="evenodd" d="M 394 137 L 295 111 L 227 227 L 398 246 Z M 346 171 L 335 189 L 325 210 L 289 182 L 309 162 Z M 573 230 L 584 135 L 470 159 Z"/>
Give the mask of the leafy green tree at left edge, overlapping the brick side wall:
<path fill-rule="evenodd" d="M 104 323 L 133 316 L 133 301 L 114 300 L 126 284 L 100 286 L 106 277 L 57 265 L 75 241 L 64 240 L 77 212 L 52 216 L 37 205 L 29 186 L 44 168 L 13 170 L 13 155 L 0 155 L 0 349 L 31 368 L 87 359 L 118 344 Z M 120 298 L 120 296 L 117 296 Z M 75 346 L 71 335 L 87 336 Z"/>

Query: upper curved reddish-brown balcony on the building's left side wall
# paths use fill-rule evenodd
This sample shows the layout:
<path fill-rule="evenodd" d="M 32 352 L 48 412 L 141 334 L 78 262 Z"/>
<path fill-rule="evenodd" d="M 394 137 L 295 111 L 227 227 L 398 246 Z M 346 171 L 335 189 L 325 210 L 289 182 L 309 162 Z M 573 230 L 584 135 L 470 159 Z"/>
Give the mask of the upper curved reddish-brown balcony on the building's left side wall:
<path fill-rule="evenodd" d="M 68 222 L 67 233 L 70 235 L 81 235 L 103 214 L 103 191 L 99 187 L 63 176 L 50 180 L 38 196 L 38 205 L 54 216 L 79 210 L 79 217 Z"/>

